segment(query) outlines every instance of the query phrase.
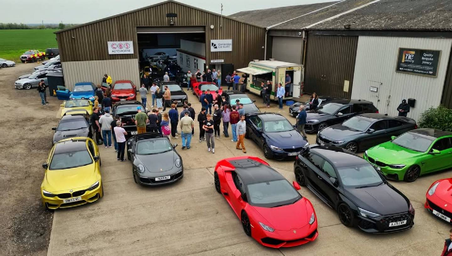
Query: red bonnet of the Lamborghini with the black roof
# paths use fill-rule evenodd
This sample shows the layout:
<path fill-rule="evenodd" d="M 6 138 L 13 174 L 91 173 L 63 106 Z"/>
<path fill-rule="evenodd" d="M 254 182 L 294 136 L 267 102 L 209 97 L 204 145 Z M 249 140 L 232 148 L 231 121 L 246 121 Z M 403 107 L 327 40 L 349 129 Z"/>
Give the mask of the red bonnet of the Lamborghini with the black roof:
<path fill-rule="evenodd" d="M 302 228 L 309 224 L 314 209 L 308 209 L 305 198 L 301 198 L 292 205 L 283 205 L 273 208 L 253 206 L 268 223 L 264 223 L 276 230 L 291 230 Z M 309 205 L 311 208 L 311 205 Z M 309 216 L 308 216 L 309 215 Z"/>

